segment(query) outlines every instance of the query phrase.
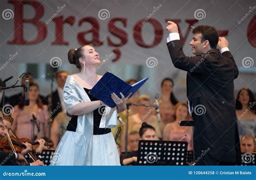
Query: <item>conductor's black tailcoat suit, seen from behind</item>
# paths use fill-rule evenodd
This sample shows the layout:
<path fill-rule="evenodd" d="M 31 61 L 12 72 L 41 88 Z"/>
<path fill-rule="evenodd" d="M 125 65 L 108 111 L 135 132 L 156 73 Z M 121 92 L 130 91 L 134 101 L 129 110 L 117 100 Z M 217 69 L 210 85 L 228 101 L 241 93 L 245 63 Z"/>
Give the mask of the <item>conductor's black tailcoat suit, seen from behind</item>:
<path fill-rule="evenodd" d="M 187 71 L 195 158 L 207 150 L 207 156 L 216 161 L 239 163 L 234 104 L 234 79 L 238 77 L 238 68 L 231 52 L 221 54 L 218 49 L 212 49 L 200 56 L 186 57 L 180 40 L 170 41 L 167 47 L 173 65 Z"/>

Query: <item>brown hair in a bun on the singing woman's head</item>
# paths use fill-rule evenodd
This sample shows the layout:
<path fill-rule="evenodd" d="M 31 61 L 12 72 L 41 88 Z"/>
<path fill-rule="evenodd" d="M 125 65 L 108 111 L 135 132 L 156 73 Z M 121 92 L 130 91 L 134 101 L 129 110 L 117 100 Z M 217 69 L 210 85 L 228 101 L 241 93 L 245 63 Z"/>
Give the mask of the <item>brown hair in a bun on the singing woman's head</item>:
<path fill-rule="evenodd" d="M 77 50 L 76 49 L 71 49 L 69 50 L 68 53 L 68 60 L 70 64 L 75 64 L 77 68 L 81 68 L 79 58 L 82 58 L 84 56 L 83 52 L 83 47 L 79 47 Z"/>

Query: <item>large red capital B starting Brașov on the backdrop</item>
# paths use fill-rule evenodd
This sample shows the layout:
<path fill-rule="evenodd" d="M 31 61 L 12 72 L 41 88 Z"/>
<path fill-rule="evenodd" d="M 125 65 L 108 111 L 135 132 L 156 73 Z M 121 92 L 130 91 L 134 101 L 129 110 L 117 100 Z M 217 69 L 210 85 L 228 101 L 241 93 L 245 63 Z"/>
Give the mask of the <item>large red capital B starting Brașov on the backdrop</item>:
<path fill-rule="evenodd" d="M 43 4 L 36 1 L 14 1 L 10 0 L 9 3 L 14 4 L 14 39 L 8 41 L 8 44 L 37 44 L 45 39 L 47 35 L 47 27 L 39 19 L 44 15 Z M 31 5 L 35 9 L 35 17 L 32 19 L 23 19 L 23 6 Z M 25 40 L 23 35 L 23 25 L 30 23 L 36 26 L 37 33 L 36 39 Z"/>

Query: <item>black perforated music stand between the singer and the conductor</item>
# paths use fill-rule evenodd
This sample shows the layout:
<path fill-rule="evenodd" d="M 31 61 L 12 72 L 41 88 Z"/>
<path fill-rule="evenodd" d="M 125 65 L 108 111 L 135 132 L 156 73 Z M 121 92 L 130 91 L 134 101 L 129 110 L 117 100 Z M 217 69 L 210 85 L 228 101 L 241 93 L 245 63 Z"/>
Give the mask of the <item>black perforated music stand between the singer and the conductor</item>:
<path fill-rule="evenodd" d="M 186 165 L 187 142 L 139 141 L 138 165 Z"/>

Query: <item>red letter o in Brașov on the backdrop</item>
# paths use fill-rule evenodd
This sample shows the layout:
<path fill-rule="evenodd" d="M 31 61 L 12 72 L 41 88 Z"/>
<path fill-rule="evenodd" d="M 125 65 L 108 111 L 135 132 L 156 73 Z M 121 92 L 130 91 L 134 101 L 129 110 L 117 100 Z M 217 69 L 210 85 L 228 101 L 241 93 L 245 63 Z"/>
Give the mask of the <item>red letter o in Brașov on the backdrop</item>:
<path fill-rule="evenodd" d="M 133 28 L 133 37 L 135 42 L 141 46 L 141 47 L 154 47 L 156 45 L 158 45 L 161 42 L 161 39 L 163 38 L 163 28 L 161 23 L 153 18 L 150 18 L 149 20 L 147 20 L 146 23 L 151 23 L 152 26 L 154 27 L 154 41 L 152 44 L 146 44 L 144 43 L 144 40 L 142 39 L 142 21 L 144 19 L 140 19 Z"/>

